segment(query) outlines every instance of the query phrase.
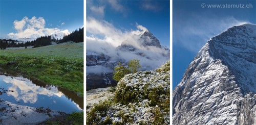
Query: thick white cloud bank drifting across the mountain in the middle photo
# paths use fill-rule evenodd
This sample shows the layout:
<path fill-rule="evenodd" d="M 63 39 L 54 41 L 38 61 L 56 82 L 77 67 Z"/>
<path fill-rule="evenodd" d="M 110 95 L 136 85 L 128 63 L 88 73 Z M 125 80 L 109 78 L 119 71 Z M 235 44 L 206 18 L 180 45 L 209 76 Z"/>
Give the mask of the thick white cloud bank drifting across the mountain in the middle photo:
<path fill-rule="evenodd" d="M 161 64 L 169 60 L 169 52 L 164 48 L 155 46 L 144 47 L 140 43 L 140 36 L 148 30 L 136 23 L 136 30 L 122 32 L 115 28 L 112 23 L 104 20 L 96 20 L 95 18 L 88 18 L 87 20 L 87 54 L 92 55 L 104 54 L 111 57 L 110 60 L 123 59 L 129 61 L 132 59 L 139 59 L 142 69 L 155 69 Z M 121 44 L 130 44 L 138 48 L 139 56 L 133 52 L 125 52 L 117 49 Z"/>

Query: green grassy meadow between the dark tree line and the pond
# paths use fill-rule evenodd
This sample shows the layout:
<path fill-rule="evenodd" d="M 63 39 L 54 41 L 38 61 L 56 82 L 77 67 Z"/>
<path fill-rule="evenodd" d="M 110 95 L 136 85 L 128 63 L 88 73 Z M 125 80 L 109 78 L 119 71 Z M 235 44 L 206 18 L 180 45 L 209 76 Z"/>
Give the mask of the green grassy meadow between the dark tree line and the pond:
<path fill-rule="evenodd" d="M 8 65 L 11 61 L 15 63 Z M 0 71 L 22 74 L 83 96 L 83 42 L 0 50 Z"/>

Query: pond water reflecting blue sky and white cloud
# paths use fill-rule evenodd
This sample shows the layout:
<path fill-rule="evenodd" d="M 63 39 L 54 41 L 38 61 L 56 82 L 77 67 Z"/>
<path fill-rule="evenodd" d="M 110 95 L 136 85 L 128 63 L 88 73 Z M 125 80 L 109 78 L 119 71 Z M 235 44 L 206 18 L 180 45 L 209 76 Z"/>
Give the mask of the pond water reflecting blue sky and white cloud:
<path fill-rule="evenodd" d="M 76 93 L 37 80 L 0 75 L 0 88 L 11 90 L 0 97 L 14 104 L 50 107 L 67 113 L 83 109 L 83 98 Z"/>

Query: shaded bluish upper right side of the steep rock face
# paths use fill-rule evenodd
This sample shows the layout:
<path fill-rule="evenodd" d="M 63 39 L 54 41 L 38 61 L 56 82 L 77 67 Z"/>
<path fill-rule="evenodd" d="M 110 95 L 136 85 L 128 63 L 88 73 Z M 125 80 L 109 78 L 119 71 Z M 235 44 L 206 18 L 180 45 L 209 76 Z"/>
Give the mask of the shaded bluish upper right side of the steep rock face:
<path fill-rule="evenodd" d="M 256 25 L 243 24 L 229 28 L 208 41 L 210 56 L 222 60 L 238 78 L 243 94 L 256 92 Z"/>

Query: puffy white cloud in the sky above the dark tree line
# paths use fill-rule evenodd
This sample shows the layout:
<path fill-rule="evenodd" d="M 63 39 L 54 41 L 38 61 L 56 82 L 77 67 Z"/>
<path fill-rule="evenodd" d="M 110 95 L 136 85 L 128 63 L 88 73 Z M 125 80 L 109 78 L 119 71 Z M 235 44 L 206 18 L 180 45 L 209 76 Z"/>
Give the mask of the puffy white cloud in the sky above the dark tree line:
<path fill-rule="evenodd" d="M 65 24 L 64 22 L 61 23 Z M 15 20 L 13 22 L 16 33 L 9 33 L 10 38 L 37 38 L 41 36 L 52 35 L 60 32 L 58 28 L 45 28 L 46 21 L 43 17 L 36 18 L 33 16 L 31 19 L 24 17 L 22 20 Z"/>

